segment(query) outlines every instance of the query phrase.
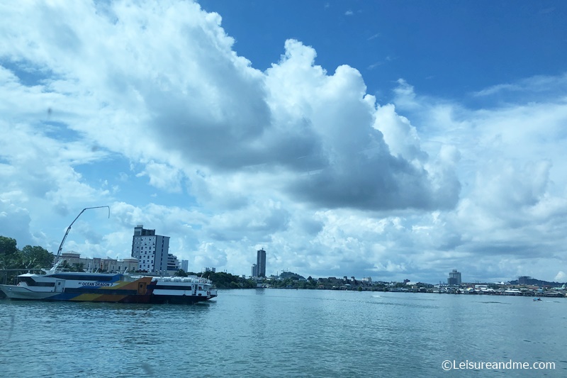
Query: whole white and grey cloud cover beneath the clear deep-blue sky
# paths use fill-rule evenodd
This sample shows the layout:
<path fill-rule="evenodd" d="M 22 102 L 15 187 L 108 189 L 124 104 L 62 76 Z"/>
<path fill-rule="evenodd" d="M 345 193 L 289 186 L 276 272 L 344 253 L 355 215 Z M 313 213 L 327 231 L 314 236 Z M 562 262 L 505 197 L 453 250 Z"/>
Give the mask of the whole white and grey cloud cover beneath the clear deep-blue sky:
<path fill-rule="evenodd" d="M 69 249 L 128 257 L 144 224 L 191 269 L 247 273 L 260 247 L 274 272 L 430 282 L 565 263 L 564 75 L 479 91 L 514 92 L 483 109 L 399 79 L 377 104 L 357 69 L 327 72 L 299 40 L 255 69 L 191 1 L 2 13 L 0 219 L 18 238 L 56 250 L 69 218 L 111 204 Z"/>

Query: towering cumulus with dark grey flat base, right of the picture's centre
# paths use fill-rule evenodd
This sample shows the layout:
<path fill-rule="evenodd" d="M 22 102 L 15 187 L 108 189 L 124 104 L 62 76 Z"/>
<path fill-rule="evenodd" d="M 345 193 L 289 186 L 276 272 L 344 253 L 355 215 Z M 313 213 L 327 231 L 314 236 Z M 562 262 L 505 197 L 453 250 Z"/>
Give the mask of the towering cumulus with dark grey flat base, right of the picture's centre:
<path fill-rule="evenodd" d="M 385 112 L 376 108 L 374 96 L 366 94 L 361 74 L 340 66 L 335 74 L 327 75 L 314 60 L 313 48 L 288 40 L 286 55 L 266 72 L 268 87 L 275 87 L 271 91 L 276 98 L 271 101 L 277 106 L 274 113 L 281 108 L 285 113 L 300 112 L 298 116 L 308 119 L 317 141 L 308 174 L 291 181 L 288 189 L 300 199 L 330 208 L 454 206 L 459 193 L 455 177 L 442 178 L 447 179 L 443 186 L 455 192 L 441 198 L 432 184 L 432 174 L 422 164 L 427 154 L 420 151 L 415 133 L 410 156 L 392 155 L 379 127 L 388 130 L 394 149 L 405 144 L 403 139 L 411 130 L 393 111 L 384 116 Z M 283 81 L 282 77 L 288 79 Z M 393 131 L 400 128 L 399 133 Z M 403 139 L 398 143 L 400 137 Z"/>

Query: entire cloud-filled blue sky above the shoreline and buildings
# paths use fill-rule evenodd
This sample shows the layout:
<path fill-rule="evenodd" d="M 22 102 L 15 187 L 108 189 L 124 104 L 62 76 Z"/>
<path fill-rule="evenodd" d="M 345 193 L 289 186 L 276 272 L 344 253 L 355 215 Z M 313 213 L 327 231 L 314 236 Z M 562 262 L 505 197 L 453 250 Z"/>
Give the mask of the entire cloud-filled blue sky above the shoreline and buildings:
<path fill-rule="evenodd" d="M 567 282 L 564 1 L 0 4 L 0 235 L 204 267 Z"/>

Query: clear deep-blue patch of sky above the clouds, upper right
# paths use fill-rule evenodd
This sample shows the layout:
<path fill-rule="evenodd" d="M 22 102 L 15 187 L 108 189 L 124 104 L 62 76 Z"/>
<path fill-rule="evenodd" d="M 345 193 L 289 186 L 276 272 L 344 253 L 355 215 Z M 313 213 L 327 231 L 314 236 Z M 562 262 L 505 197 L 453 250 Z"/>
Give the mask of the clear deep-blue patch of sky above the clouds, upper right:
<path fill-rule="evenodd" d="M 202 1 L 223 16 L 235 51 L 265 70 L 295 38 L 333 72 L 356 67 L 369 93 L 389 99 L 403 77 L 427 94 L 466 94 L 538 74 L 562 74 L 559 1 Z"/>

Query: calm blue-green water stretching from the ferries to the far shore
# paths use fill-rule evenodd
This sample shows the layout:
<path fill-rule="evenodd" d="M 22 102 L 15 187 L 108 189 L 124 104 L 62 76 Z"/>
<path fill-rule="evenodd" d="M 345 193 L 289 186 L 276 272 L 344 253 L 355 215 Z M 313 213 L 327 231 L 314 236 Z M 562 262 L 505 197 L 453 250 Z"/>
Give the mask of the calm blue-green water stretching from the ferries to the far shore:
<path fill-rule="evenodd" d="M 225 290 L 193 306 L 0 300 L 1 377 L 567 377 L 567 299 Z M 555 362 L 452 370 L 442 362 Z"/>

